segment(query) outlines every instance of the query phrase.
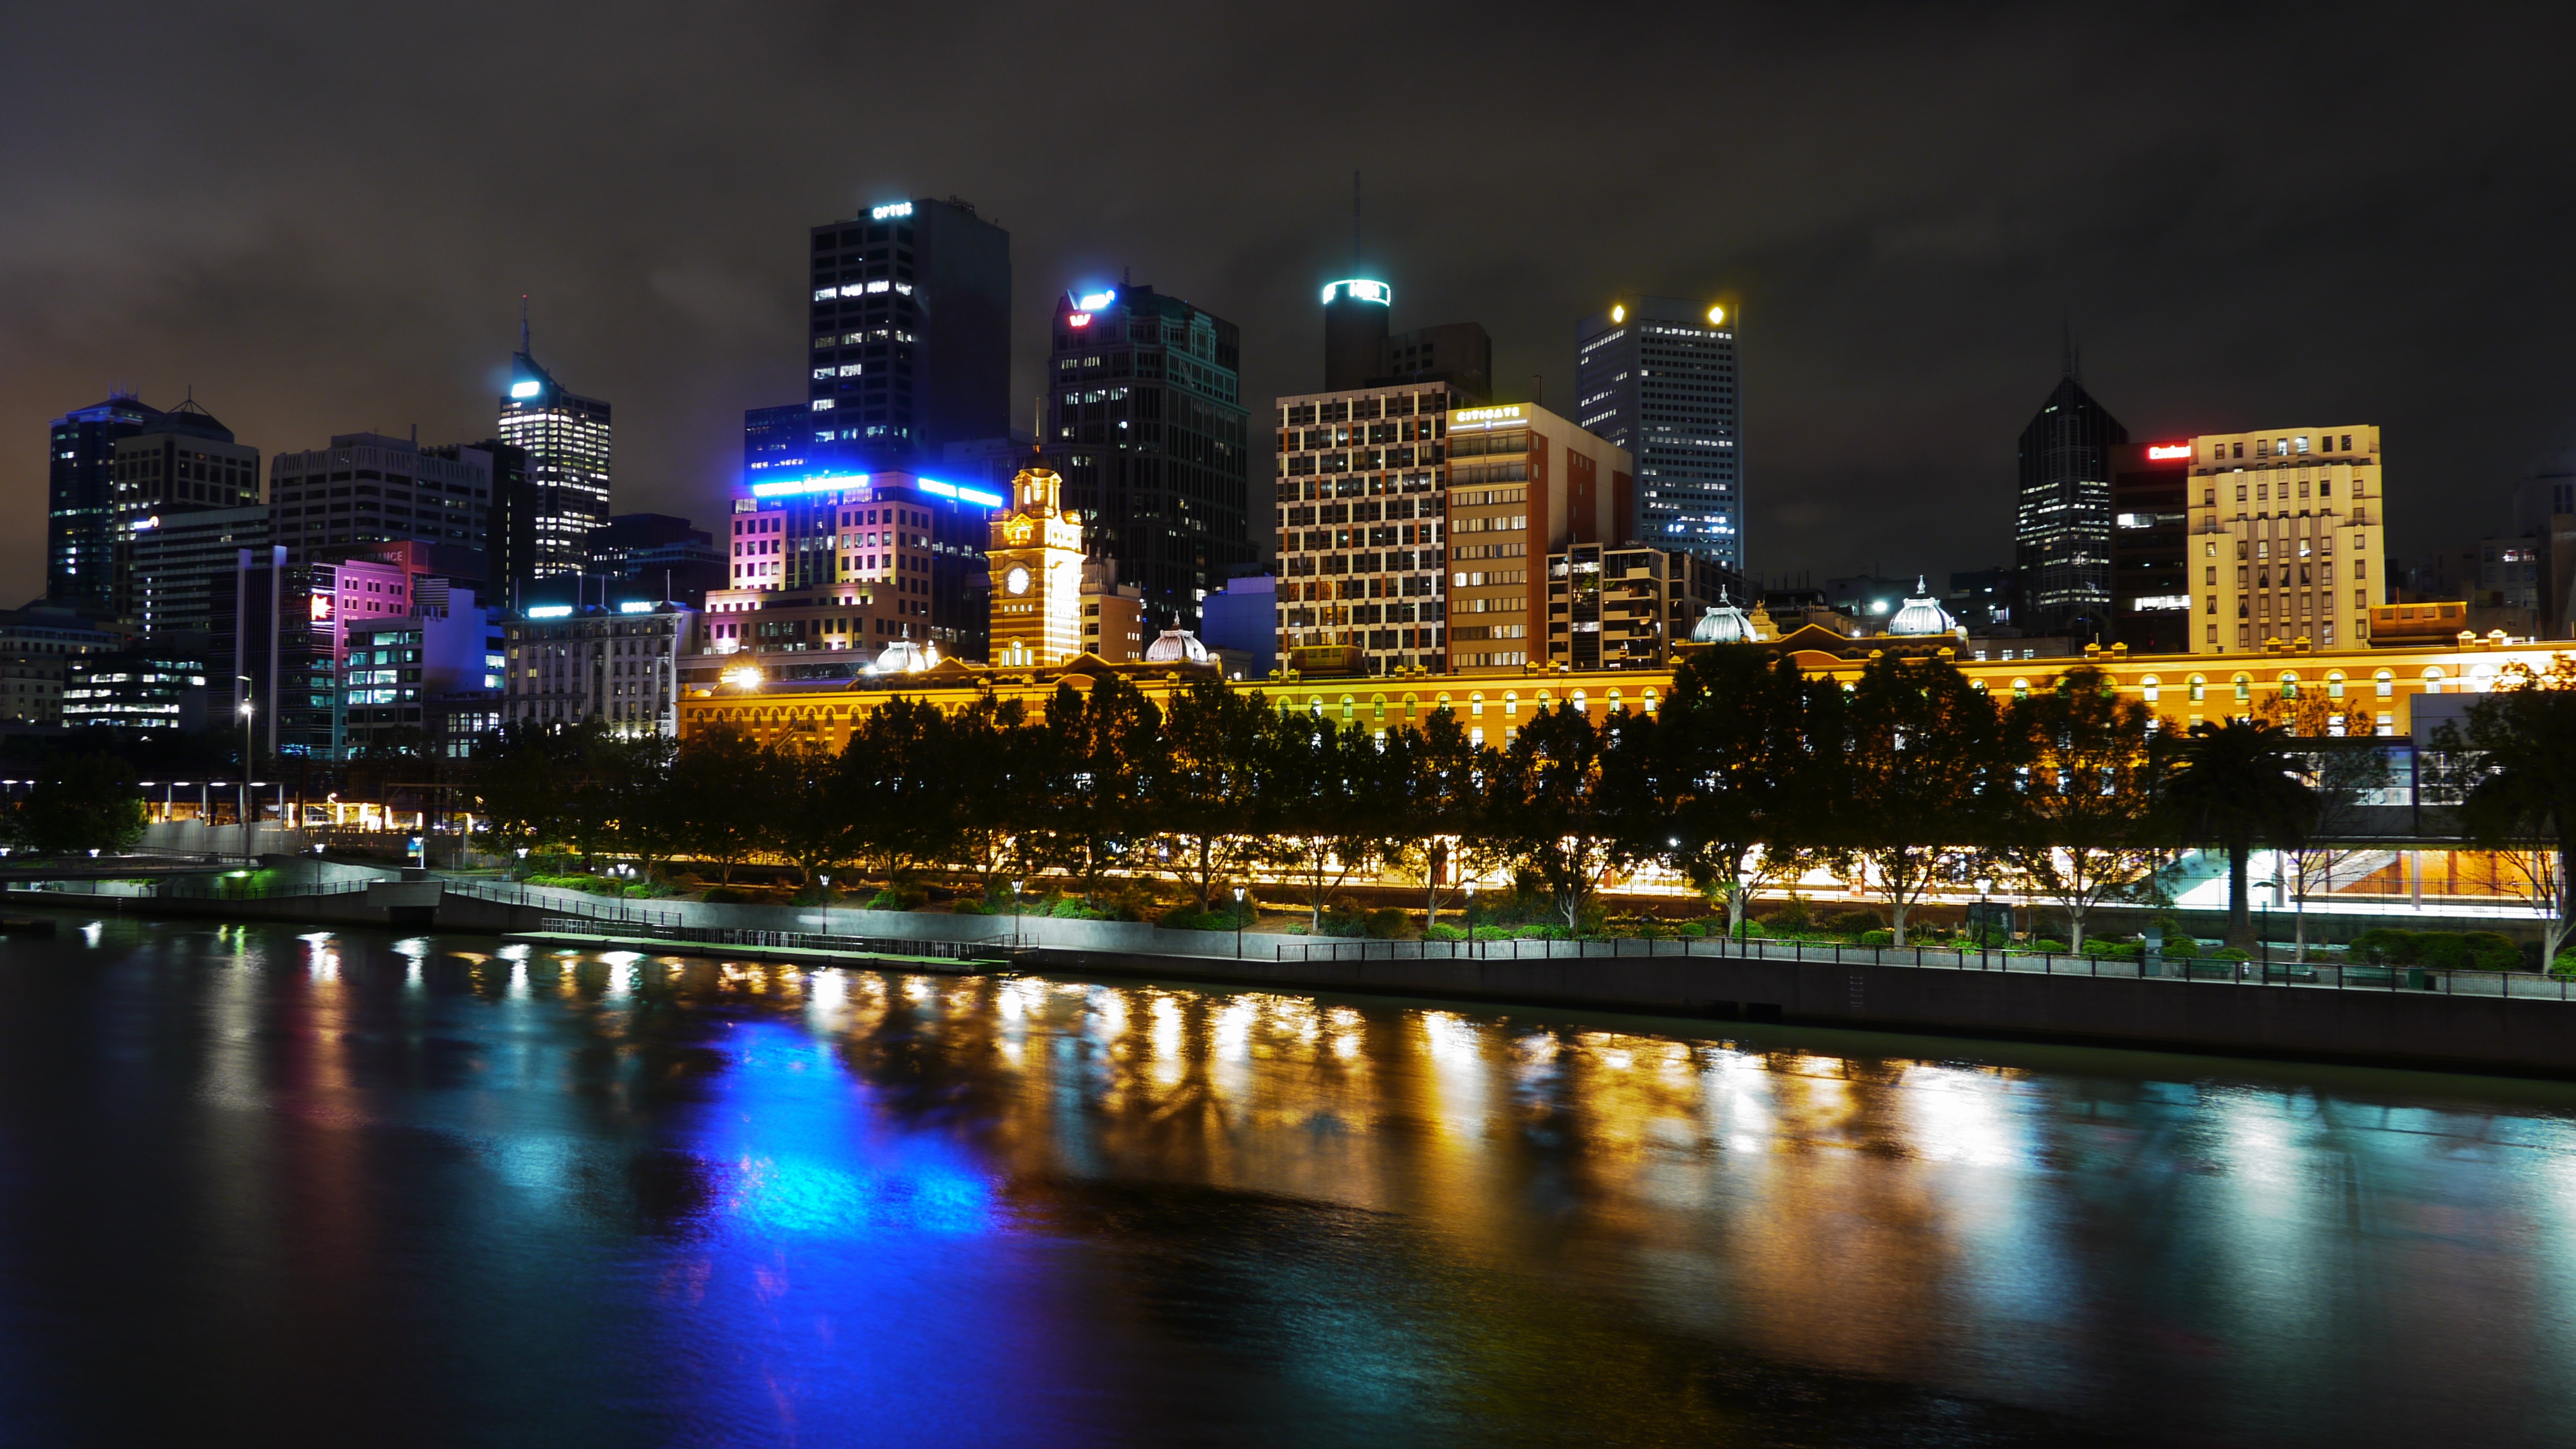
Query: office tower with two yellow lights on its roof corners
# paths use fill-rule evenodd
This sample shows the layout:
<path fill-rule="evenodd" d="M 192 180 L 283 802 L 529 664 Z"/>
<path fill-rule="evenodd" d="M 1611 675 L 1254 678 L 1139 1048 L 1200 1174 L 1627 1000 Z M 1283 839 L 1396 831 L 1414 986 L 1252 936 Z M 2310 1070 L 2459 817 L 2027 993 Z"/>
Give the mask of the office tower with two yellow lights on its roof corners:
<path fill-rule="evenodd" d="M 1574 420 L 1636 456 L 1628 539 L 1744 570 L 1736 315 L 1620 297 L 1574 327 Z"/>

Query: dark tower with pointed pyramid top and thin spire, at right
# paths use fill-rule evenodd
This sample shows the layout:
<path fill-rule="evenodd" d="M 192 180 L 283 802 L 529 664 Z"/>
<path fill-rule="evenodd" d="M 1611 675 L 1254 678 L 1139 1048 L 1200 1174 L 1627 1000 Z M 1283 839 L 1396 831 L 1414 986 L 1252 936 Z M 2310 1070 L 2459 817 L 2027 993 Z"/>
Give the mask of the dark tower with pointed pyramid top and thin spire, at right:
<path fill-rule="evenodd" d="M 2022 632 L 2105 642 L 2110 632 L 2110 451 L 2128 428 L 2066 376 L 2022 428 L 2022 495 L 2014 567 L 2022 570 Z"/>

